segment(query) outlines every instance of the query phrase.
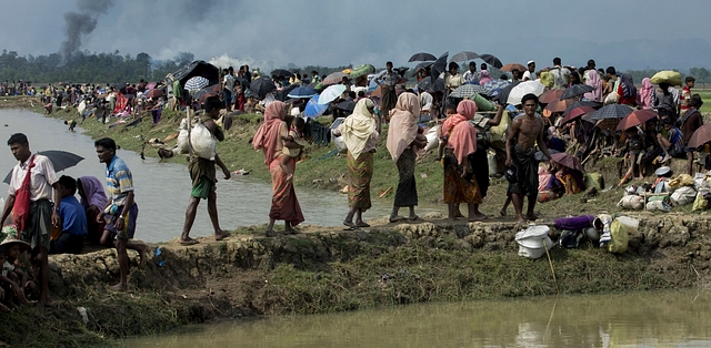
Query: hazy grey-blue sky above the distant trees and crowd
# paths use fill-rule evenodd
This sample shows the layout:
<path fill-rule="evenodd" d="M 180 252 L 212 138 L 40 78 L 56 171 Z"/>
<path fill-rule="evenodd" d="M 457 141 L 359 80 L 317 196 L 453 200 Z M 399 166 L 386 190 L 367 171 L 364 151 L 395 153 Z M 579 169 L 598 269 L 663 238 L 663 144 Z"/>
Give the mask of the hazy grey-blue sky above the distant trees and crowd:
<path fill-rule="evenodd" d="M 710 0 L 1 1 L 0 49 L 20 55 L 78 47 L 280 68 L 408 65 L 415 52 L 473 51 L 540 68 L 560 57 L 578 66 L 592 58 L 598 66 L 661 69 L 702 66 L 711 53 Z M 68 29 L 79 34 L 69 40 Z M 681 52 L 658 52 L 674 42 Z"/>

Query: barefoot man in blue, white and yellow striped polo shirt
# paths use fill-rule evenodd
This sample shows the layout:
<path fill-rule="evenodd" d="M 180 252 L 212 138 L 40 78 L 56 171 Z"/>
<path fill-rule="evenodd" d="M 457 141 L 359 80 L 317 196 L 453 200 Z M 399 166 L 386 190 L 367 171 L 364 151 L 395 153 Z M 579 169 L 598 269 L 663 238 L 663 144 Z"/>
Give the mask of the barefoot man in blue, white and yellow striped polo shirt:
<path fill-rule="evenodd" d="M 119 254 L 119 284 L 111 287 L 112 290 L 126 290 L 129 274 L 129 254 L 127 248 L 138 252 L 141 265 L 146 259 L 148 246 L 143 243 L 130 240 L 136 233 L 136 218 L 138 217 L 138 204 L 133 201 L 133 175 L 123 160 L 116 155 L 116 142 L 110 137 L 103 137 L 93 143 L 100 163 L 106 163 L 107 191 L 109 203 L 97 215 L 97 222 L 106 221 L 101 244 L 114 238 L 117 254 Z"/>

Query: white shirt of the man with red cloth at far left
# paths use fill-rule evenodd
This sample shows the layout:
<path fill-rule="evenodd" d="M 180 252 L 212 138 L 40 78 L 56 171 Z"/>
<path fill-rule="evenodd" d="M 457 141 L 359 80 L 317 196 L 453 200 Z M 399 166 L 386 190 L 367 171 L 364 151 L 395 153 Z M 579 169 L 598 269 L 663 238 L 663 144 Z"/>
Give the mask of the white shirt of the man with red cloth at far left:
<path fill-rule="evenodd" d="M 12 168 L 12 176 L 10 177 L 10 188 L 8 194 L 14 196 L 17 191 L 22 186 L 24 176 L 27 174 L 27 167 L 30 165 L 30 160 L 34 157 L 34 166 L 30 176 L 30 201 L 36 202 L 38 199 L 51 199 L 52 198 L 52 185 L 59 181 L 52 162 L 43 155 L 31 155 L 24 163 L 18 163 Z"/>

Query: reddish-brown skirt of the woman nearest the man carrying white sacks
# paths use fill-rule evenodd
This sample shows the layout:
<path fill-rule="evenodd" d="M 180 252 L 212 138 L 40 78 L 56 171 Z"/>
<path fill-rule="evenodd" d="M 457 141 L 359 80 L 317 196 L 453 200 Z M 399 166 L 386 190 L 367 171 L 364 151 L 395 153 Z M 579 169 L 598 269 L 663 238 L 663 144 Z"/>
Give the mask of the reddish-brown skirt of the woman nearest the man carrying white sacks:
<path fill-rule="evenodd" d="M 274 158 L 269 164 L 272 187 L 269 218 L 283 219 L 291 226 L 296 226 L 303 222 L 303 214 L 301 213 L 301 206 L 299 206 L 299 199 L 297 199 L 297 193 L 293 190 L 293 183 L 287 180 L 287 174 L 281 170 L 279 162 L 279 158 Z M 297 164 L 293 158 L 289 161 L 289 167 L 294 173 Z"/>

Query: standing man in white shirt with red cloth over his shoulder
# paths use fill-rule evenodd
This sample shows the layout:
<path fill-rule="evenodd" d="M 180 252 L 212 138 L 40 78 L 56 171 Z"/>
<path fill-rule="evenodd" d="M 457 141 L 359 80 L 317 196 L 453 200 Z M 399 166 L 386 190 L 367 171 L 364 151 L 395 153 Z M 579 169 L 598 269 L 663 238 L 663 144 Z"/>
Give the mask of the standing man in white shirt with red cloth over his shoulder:
<path fill-rule="evenodd" d="M 52 226 L 60 226 L 59 209 L 61 194 L 59 178 L 52 162 L 43 155 L 32 154 L 27 135 L 14 133 L 10 135 L 8 145 L 12 155 L 19 161 L 12 168 L 8 201 L 2 209 L 6 221 L 12 213 L 12 223 L 18 226 L 20 239 L 31 247 L 32 264 L 38 267 L 40 283 L 40 298 L 38 308 L 52 305 L 49 295 L 49 264 L 47 255 L 50 248 Z M 27 176 L 30 174 L 30 176 Z M 50 199 L 54 195 L 54 206 Z"/>

